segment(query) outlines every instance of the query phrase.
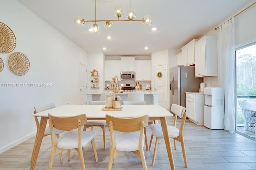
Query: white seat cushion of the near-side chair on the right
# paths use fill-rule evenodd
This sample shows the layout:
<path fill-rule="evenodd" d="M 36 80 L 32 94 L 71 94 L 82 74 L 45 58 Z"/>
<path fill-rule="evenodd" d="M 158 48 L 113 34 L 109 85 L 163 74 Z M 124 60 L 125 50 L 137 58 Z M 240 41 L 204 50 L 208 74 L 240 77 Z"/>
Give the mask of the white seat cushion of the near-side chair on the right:
<path fill-rule="evenodd" d="M 139 149 L 139 137 L 140 131 L 123 133 L 114 132 L 116 139 L 116 150 L 120 151 L 134 151 Z M 144 134 L 143 134 L 144 139 Z M 145 140 L 142 140 L 142 146 L 144 146 Z"/>

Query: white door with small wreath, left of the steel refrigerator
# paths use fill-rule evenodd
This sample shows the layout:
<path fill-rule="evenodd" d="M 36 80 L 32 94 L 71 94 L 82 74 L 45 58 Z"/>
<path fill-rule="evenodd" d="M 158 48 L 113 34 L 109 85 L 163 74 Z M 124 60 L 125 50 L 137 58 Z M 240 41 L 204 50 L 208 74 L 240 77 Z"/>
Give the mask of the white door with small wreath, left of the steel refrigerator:
<path fill-rule="evenodd" d="M 161 72 L 162 77 L 157 74 Z M 154 91 L 159 93 L 158 104 L 167 109 L 167 72 L 166 65 L 154 66 Z"/>

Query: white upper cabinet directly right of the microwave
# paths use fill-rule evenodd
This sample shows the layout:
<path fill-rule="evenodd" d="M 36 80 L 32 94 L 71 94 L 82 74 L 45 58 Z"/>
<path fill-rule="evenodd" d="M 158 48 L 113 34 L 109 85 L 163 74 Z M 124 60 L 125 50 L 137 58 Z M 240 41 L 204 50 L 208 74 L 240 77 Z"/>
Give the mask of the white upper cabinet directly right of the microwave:
<path fill-rule="evenodd" d="M 150 60 L 135 60 L 135 79 L 136 81 L 151 81 Z"/>

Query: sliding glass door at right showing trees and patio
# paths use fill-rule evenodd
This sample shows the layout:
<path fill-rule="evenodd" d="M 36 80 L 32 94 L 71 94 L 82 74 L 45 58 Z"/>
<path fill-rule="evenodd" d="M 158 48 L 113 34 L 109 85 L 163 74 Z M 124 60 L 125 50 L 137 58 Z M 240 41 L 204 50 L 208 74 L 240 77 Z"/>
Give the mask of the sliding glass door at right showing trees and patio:
<path fill-rule="evenodd" d="M 236 50 L 236 131 L 255 139 L 256 42 Z"/>

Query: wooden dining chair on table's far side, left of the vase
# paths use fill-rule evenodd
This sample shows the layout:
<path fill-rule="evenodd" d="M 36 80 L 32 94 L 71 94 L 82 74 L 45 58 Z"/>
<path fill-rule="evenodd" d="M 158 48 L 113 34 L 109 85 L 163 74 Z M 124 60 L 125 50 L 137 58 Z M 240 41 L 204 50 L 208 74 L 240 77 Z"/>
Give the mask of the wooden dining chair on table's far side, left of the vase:
<path fill-rule="evenodd" d="M 104 101 L 90 101 L 89 105 L 105 105 L 105 102 Z M 106 142 L 105 142 L 105 125 L 106 124 L 107 123 L 104 120 L 88 120 L 87 123 L 84 125 L 84 131 L 86 131 L 86 129 L 88 127 L 91 127 L 91 131 L 92 131 L 94 126 L 98 126 L 102 129 L 104 149 L 106 149 Z"/>

